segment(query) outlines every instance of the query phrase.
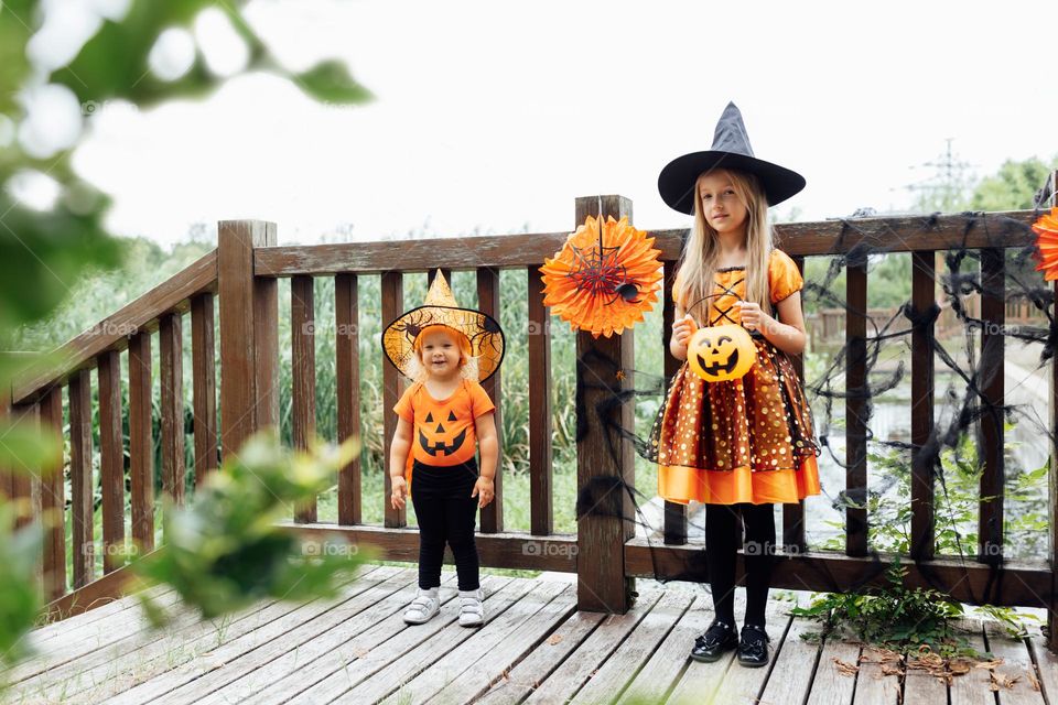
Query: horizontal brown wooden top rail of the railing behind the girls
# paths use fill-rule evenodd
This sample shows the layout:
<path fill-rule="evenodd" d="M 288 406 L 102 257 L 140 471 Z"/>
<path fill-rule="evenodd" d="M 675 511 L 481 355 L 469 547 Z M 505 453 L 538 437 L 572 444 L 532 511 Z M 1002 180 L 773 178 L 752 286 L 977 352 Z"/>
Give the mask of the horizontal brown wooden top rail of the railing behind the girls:
<path fill-rule="evenodd" d="M 902 216 L 845 218 L 812 223 L 780 223 L 777 240 L 790 256 L 831 254 L 863 242 L 886 252 L 946 250 L 952 248 L 1024 247 L 1035 240 L 1029 225 L 1033 210 L 990 213 L 983 217 Z M 848 224 L 848 225 L 846 225 Z M 651 230 L 662 260 L 680 257 L 687 229 Z M 423 272 L 436 267 L 528 267 L 542 262 L 562 248 L 562 232 L 532 232 L 473 238 L 432 238 L 400 243 L 403 271 Z M 384 272 L 392 267 L 393 243 L 341 242 L 307 247 L 274 247 L 255 253 L 259 276 Z"/>

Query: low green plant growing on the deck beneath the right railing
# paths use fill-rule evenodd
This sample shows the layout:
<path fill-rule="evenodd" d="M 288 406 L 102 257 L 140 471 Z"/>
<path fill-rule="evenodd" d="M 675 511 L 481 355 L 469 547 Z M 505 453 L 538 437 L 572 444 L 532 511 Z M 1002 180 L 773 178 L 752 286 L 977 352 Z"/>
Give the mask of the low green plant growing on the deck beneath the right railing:
<path fill-rule="evenodd" d="M 962 605 L 933 589 L 904 586 L 906 568 L 899 560 L 886 571 L 884 587 L 857 593 L 829 593 L 809 607 L 795 607 L 798 617 L 823 620 L 823 634 L 854 636 L 902 653 L 929 646 L 942 657 L 972 652 L 965 638 L 956 633 L 951 620 L 961 617 Z M 811 634 L 819 638 L 821 634 Z"/>

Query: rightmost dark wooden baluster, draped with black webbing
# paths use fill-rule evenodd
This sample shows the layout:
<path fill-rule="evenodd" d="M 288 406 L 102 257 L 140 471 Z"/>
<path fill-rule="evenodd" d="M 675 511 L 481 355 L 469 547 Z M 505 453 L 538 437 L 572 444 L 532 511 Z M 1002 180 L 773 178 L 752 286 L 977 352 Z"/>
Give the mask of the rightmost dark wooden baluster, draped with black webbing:
<path fill-rule="evenodd" d="M 1006 470 L 1003 463 L 1004 328 L 1006 306 L 1004 251 L 981 251 L 981 503 L 978 525 L 978 560 L 987 565 L 1003 562 L 1003 497 Z"/>

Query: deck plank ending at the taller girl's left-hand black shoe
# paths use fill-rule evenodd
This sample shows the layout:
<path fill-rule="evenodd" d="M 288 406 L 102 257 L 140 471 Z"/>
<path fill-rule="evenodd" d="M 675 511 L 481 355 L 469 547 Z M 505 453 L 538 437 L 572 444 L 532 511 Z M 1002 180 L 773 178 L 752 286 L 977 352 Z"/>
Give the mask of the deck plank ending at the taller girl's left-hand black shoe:
<path fill-rule="evenodd" d="M 618 705 L 663 702 L 669 690 L 683 673 L 694 639 L 703 633 L 712 621 L 712 601 L 704 595 L 699 596 L 622 694 Z"/>

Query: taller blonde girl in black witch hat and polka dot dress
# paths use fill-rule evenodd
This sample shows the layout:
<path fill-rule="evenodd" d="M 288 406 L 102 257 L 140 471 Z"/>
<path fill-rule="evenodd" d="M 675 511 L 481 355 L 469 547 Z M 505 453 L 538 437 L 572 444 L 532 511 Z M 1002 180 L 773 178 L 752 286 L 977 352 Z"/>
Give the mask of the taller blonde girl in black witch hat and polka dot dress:
<path fill-rule="evenodd" d="M 673 285 L 669 349 L 685 360 L 701 326 L 741 324 L 757 360 L 745 377 L 706 382 L 687 362 L 676 373 L 651 434 L 658 494 L 705 507 L 705 561 L 715 620 L 691 651 L 715 661 L 737 648 L 745 666 L 768 663 L 765 608 L 775 546 L 775 502 L 820 491 L 811 412 L 789 355 L 805 349 L 802 279 L 775 249 L 773 206 L 805 187 L 799 174 L 754 158 L 734 104 L 713 147 L 670 162 L 658 178 L 665 202 L 694 216 Z M 746 616 L 735 631 L 735 560 L 745 525 Z"/>

